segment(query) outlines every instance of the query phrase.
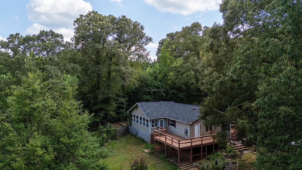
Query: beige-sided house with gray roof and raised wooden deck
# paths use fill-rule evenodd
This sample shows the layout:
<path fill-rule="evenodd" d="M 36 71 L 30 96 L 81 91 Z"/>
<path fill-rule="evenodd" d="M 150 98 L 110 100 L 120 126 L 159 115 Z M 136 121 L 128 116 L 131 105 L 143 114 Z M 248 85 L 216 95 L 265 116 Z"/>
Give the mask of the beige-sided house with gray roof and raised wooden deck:
<path fill-rule="evenodd" d="M 130 132 L 147 143 L 164 145 L 166 158 L 179 167 L 220 149 L 213 136 L 221 126 L 205 126 L 199 118 L 199 106 L 172 101 L 139 102 L 128 113 Z"/>

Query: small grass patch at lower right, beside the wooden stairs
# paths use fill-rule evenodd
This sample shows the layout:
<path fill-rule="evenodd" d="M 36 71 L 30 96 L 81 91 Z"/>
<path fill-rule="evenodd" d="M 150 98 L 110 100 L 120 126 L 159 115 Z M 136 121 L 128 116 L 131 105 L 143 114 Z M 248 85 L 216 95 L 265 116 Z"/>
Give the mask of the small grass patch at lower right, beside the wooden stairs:
<path fill-rule="evenodd" d="M 254 153 L 243 154 L 238 158 L 239 170 L 252 170 L 256 162 L 256 155 Z"/>

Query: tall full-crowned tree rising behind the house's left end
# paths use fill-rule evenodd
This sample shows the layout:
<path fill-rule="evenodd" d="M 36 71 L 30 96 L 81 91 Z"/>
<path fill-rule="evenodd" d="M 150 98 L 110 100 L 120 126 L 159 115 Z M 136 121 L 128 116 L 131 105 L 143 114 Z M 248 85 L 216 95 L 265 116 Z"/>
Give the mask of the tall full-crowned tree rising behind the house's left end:
<path fill-rule="evenodd" d="M 143 32 L 143 25 L 124 15 L 116 18 L 91 11 L 74 25 L 73 42 L 82 67 L 79 98 L 95 113 L 95 121 L 126 119 L 126 93 L 133 89 L 135 72 L 130 62 L 147 61 L 145 46 L 152 38 Z"/>

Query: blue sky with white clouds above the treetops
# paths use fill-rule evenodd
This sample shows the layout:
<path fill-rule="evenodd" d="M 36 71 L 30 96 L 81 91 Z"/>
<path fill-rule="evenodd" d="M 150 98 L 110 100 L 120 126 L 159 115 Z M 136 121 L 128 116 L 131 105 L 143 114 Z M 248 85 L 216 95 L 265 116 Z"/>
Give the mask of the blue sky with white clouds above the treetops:
<path fill-rule="evenodd" d="M 221 0 L 10 0 L 1 2 L 0 40 L 9 34 L 38 34 L 50 30 L 63 34 L 65 41 L 73 36 L 73 21 L 88 11 L 102 15 L 126 15 L 145 27 L 153 38 L 147 45 L 151 59 L 156 58 L 158 42 L 166 34 L 181 31 L 193 22 L 202 26 L 222 23 Z"/>

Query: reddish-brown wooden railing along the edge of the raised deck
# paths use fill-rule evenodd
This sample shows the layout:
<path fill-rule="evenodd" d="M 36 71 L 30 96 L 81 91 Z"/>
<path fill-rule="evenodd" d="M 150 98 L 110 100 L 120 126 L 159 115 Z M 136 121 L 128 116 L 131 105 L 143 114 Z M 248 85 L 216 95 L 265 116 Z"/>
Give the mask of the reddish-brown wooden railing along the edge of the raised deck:
<path fill-rule="evenodd" d="M 184 147 L 194 146 L 194 144 L 202 145 L 203 141 L 213 139 L 213 136 L 216 135 L 216 134 L 214 134 L 214 135 L 206 135 L 206 136 L 200 136 L 200 137 L 194 137 L 194 138 L 177 139 L 173 136 L 167 135 L 166 132 L 167 132 L 166 129 L 154 130 L 154 138 L 159 137 L 159 140 L 165 141 L 165 142 L 171 141 L 171 145 L 173 145 L 173 146 L 176 145 L 176 147 L 178 147 L 178 148 L 182 148 L 182 146 L 184 146 Z M 208 137 L 212 137 L 212 138 L 208 138 Z M 214 139 L 213 139 L 213 142 L 215 142 Z M 189 145 L 187 145 L 187 144 L 189 144 Z"/>

